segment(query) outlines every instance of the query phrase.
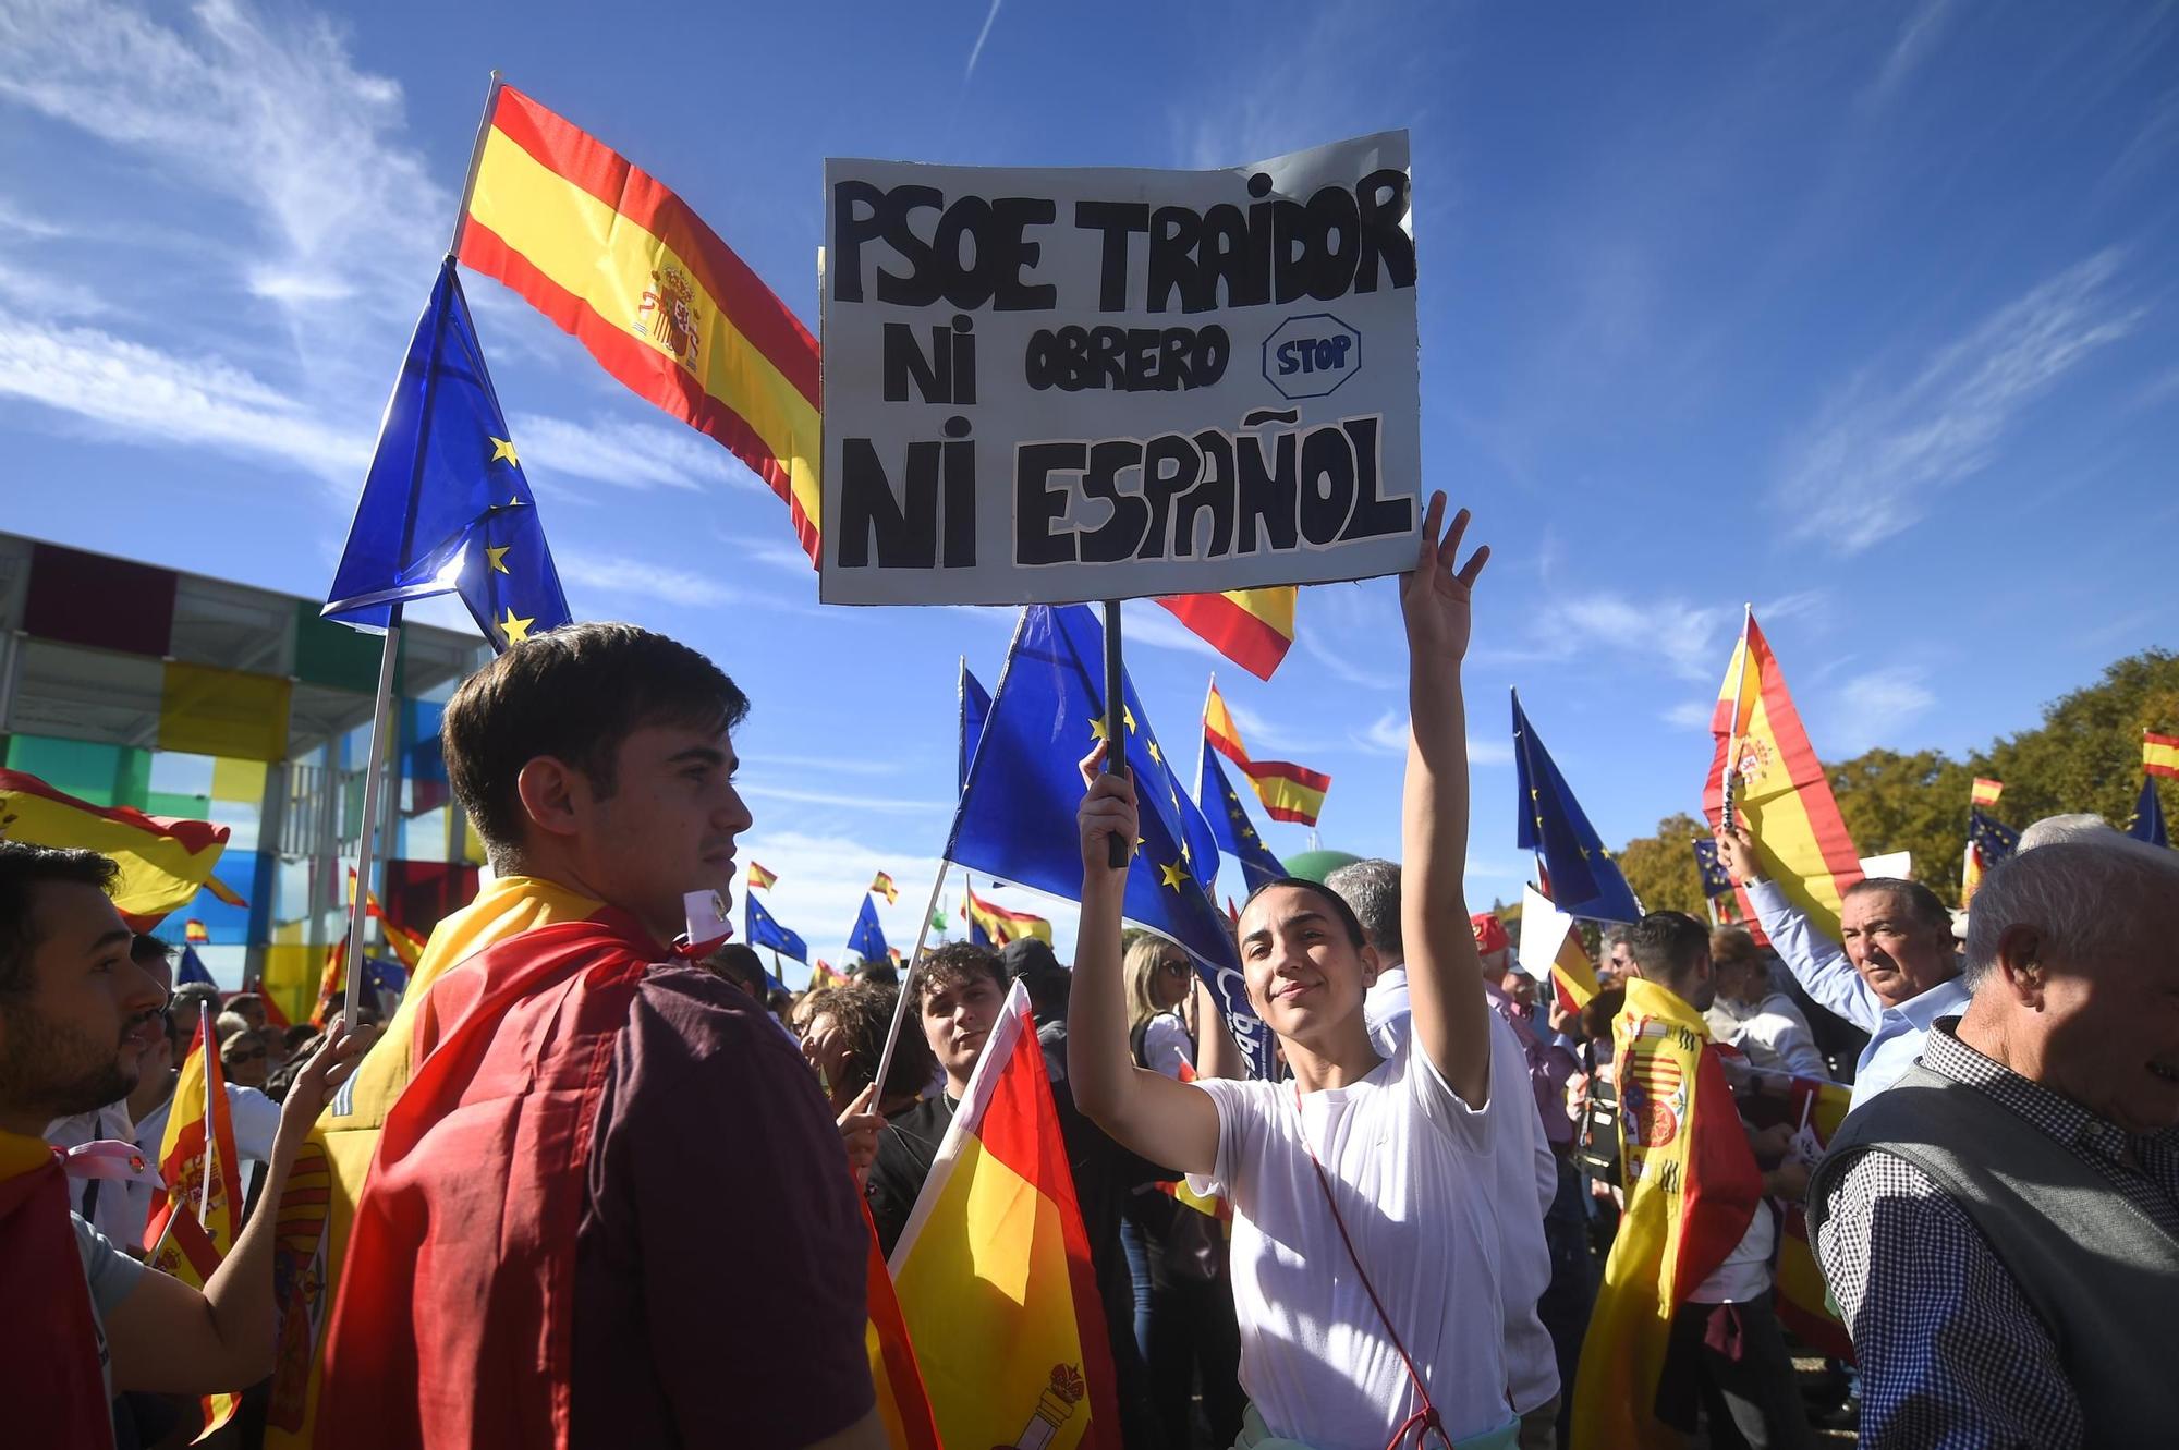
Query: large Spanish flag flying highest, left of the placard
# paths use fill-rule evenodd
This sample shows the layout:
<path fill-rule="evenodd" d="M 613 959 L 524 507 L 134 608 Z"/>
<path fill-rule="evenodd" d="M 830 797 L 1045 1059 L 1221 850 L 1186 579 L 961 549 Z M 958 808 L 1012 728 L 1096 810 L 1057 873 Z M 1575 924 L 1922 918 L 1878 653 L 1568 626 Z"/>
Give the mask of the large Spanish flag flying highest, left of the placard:
<path fill-rule="evenodd" d="M 673 192 L 499 87 L 458 257 L 756 470 L 817 560 L 817 340 Z"/>

